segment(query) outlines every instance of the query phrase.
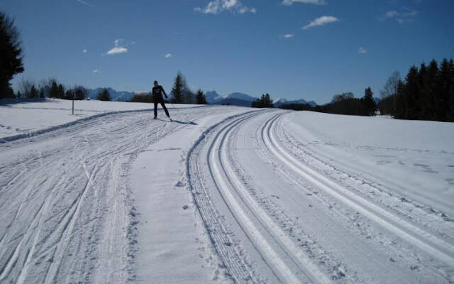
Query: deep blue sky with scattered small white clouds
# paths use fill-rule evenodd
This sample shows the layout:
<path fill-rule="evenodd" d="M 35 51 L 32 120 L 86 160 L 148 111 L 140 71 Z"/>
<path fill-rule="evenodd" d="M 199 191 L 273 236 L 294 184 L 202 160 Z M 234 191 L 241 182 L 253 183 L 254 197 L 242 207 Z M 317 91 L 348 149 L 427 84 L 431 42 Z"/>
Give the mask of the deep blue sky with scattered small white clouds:
<path fill-rule="evenodd" d="M 452 0 L 1 0 L 35 80 L 331 100 L 454 58 Z"/>

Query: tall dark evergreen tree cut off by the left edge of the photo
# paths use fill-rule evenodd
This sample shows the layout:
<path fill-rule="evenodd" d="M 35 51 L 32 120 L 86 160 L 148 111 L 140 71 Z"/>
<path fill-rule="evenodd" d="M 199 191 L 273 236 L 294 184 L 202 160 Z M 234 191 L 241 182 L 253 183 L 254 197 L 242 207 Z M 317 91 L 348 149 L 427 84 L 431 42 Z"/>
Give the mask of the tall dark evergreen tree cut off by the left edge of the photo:
<path fill-rule="evenodd" d="M 13 19 L 0 11 L 0 99 L 14 97 L 10 81 L 23 72 L 20 35 Z"/>

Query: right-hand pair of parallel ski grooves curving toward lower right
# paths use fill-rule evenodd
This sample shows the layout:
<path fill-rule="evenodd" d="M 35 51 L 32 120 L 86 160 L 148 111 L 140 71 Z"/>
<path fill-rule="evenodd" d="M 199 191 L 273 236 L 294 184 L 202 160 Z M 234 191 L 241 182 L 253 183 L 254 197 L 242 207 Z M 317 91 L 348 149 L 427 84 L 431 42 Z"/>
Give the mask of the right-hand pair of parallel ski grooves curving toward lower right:
<path fill-rule="evenodd" d="M 289 143 L 288 139 L 286 140 L 285 137 L 288 137 L 289 134 L 283 131 L 282 125 L 279 125 L 279 121 L 282 120 L 284 115 L 285 114 L 276 114 L 265 123 L 264 141 L 267 144 L 267 148 L 275 154 L 276 158 L 287 165 L 287 168 L 311 182 L 316 188 L 327 192 L 328 195 L 334 197 L 335 200 L 342 202 L 354 211 L 359 212 L 362 216 L 372 220 L 375 224 L 382 226 L 382 228 L 389 233 L 394 234 L 394 236 L 402 238 L 406 243 L 411 244 L 419 251 L 428 253 L 429 256 L 436 258 L 439 262 L 432 263 L 431 266 L 433 266 L 434 269 L 431 267 L 429 267 L 429 269 L 436 273 L 441 273 L 443 278 L 449 279 L 449 281 L 452 280 L 454 246 L 450 244 L 449 241 L 445 241 L 445 239 L 432 234 L 431 231 L 424 226 L 417 226 L 417 224 L 408 222 L 407 218 L 399 217 L 393 212 L 394 210 L 392 209 L 394 209 L 394 207 L 392 204 L 384 204 L 382 206 L 375 204 L 372 200 L 368 200 L 366 197 L 358 195 L 350 188 L 343 186 L 340 182 L 331 178 L 326 171 L 315 170 L 314 164 L 307 162 L 308 157 L 302 155 L 301 150 L 295 149 L 294 145 Z M 293 147 L 289 145 L 292 145 Z M 326 164 L 328 162 L 325 161 L 323 163 Z M 366 184 L 371 183 L 372 182 L 370 181 L 366 182 Z M 358 187 L 358 185 L 356 187 Z M 408 215 L 414 214 L 413 212 L 406 213 Z M 416 214 L 418 213 L 419 212 Z M 419 220 L 421 220 L 421 218 L 420 215 Z M 430 229 L 430 225 L 428 226 Z M 449 231 L 448 227 L 441 228 L 438 226 L 438 229 Z M 418 258 L 418 254 L 421 253 L 416 253 L 416 258 Z M 438 270 L 439 268 L 442 269 Z"/>

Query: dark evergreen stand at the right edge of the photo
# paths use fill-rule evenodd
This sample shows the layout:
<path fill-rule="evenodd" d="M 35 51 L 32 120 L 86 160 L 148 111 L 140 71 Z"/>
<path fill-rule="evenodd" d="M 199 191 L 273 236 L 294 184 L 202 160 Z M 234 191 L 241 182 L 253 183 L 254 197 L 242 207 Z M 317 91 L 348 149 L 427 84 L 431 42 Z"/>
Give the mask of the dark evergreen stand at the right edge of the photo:
<path fill-rule="evenodd" d="M 384 86 L 378 108 L 396 119 L 454 121 L 453 60 L 411 66 L 405 81 L 394 72 Z"/>

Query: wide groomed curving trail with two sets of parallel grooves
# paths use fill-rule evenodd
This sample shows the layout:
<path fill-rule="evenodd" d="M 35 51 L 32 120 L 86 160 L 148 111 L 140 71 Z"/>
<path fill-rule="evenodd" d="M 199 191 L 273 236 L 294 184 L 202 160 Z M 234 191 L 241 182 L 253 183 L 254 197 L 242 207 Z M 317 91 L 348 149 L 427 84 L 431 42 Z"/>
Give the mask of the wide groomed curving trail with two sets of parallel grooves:
<path fill-rule="evenodd" d="M 373 181 L 343 185 L 332 165 L 294 143 L 284 116 L 236 116 L 188 154 L 194 201 L 236 283 L 453 280 L 450 224 L 422 209 L 402 212 L 399 196 L 368 199 Z"/>

